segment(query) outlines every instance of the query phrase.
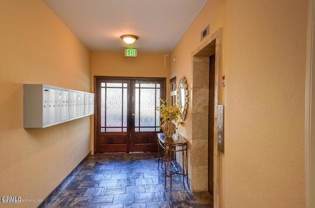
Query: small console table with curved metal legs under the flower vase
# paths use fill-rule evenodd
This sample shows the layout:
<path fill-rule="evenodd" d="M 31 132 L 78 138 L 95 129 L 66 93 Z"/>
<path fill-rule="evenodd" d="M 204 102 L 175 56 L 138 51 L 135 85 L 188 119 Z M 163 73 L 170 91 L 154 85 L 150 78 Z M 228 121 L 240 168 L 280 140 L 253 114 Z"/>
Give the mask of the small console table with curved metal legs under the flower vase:
<path fill-rule="evenodd" d="M 179 174 L 183 176 L 183 185 L 185 187 L 185 177 L 188 182 L 188 161 L 187 161 L 188 141 L 182 136 L 177 137 L 174 133 L 172 137 L 166 137 L 164 133 L 158 133 L 158 168 L 161 160 L 161 167 L 164 161 L 164 176 L 166 188 L 166 178 L 170 178 L 170 189 L 172 188 L 172 175 Z M 176 153 L 182 153 L 182 171 L 179 170 L 176 162 Z"/>

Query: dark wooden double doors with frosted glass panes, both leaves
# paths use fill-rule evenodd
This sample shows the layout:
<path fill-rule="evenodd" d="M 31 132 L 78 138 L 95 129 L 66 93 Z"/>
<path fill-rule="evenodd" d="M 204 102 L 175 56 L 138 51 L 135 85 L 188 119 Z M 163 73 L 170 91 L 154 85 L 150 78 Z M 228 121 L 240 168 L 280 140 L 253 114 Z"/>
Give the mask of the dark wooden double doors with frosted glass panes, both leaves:
<path fill-rule="evenodd" d="M 165 78 L 95 77 L 96 153 L 157 152 Z"/>

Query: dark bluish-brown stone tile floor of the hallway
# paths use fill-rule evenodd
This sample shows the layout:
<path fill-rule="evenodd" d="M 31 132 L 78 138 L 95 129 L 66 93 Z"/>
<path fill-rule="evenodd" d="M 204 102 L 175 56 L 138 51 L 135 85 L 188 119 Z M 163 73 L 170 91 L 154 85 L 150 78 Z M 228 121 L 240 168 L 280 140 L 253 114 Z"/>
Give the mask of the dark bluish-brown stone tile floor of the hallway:
<path fill-rule="evenodd" d="M 91 155 L 47 208 L 213 208 L 208 192 L 192 193 L 175 174 L 164 188 L 157 153 Z"/>

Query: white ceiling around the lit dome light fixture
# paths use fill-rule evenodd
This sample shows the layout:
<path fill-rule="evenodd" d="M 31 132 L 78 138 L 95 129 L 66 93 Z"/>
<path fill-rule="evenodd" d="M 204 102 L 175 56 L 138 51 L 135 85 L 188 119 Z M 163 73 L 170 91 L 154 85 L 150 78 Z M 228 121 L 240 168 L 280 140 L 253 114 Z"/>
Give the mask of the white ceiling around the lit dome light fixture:
<path fill-rule="evenodd" d="M 207 0 L 43 0 L 92 52 L 169 54 Z M 121 35 L 139 39 L 128 45 Z"/>

